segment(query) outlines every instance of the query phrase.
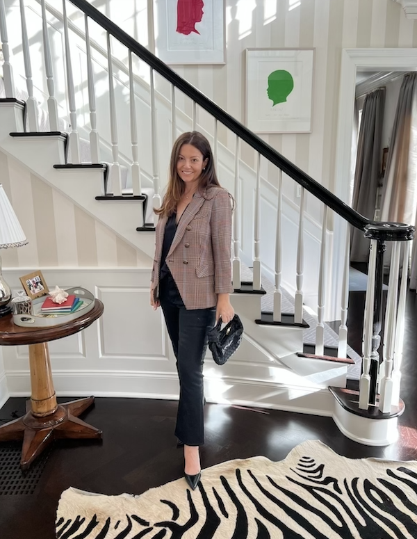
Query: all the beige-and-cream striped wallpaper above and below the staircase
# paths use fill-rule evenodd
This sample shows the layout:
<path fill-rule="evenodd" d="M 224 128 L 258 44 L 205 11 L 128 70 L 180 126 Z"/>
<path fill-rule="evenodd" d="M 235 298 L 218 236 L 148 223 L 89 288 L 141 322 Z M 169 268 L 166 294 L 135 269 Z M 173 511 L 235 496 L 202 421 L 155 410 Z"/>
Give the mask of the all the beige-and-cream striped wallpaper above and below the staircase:
<path fill-rule="evenodd" d="M 123 0 L 132 8 L 135 0 Z M 92 1 L 126 31 L 120 0 Z M 117 3 L 119 7 L 117 7 Z M 244 51 L 251 47 L 316 49 L 311 134 L 263 135 L 279 152 L 328 188 L 334 185 L 336 121 L 341 50 L 355 47 L 417 47 L 417 23 L 393 0 L 225 0 L 226 65 L 187 65 L 174 69 L 238 120 L 245 121 Z M 145 6 L 145 0 L 140 0 Z M 290 6 L 295 6 L 290 9 Z M 132 9 L 126 11 L 131 12 Z M 143 13 L 140 15 L 143 18 Z M 125 18 L 125 17 L 122 17 Z M 117 19 L 117 20 L 116 20 Z M 145 44 L 145 43 L 144 43 Z M 187 106 L 190 106 L 188 104 Z M 202 118 L 202 115 L 201 115 Z M 233 147 L 225 130 L 220 140 Z M 242 148 L 252 166 L 254 154 Z M 0 153 L 1 182 L 30 243 L 2 253 L 4 266 L 144 266 L 145 260 L 72 202 Z M 150 172 L 150 171 L 148 171 Z M 273 183 L 277 172 L 263 163 Z M 161 177 L 165 175 L 161 171 Z M 25 196 L 21 196 L 22 193 Z M 313 205 L 308 198 L 307 210 Z M 313 214 L 313 208 L 311 208 Z"/>

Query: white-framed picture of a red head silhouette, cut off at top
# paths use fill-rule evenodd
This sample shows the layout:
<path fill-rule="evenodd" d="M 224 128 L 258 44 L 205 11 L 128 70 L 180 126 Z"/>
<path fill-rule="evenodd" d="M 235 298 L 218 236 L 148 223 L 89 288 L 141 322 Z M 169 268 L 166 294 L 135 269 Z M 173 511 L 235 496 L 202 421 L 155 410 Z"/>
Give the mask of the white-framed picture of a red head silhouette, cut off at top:
<path fill-rule="evenodd" d="M 193 1 L 155 1 L 155 54 L 170 65 L 224 64 L 224 0 Z M 184 2 L 182 19 L 179 2 Z"/>

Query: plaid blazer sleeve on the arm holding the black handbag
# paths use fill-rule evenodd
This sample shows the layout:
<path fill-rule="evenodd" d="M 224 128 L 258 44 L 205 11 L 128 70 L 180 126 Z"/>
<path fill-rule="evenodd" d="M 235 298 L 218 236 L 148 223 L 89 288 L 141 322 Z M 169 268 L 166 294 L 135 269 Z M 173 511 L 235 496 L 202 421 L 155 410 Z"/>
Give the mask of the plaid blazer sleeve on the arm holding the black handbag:
<path fill-rule="evenodd" d="M 211 211 L 211 245 L 214 259 L 214 292 L 232 293 L 231 285 L 231 201 L 225 189 L 219 189 Z"/>

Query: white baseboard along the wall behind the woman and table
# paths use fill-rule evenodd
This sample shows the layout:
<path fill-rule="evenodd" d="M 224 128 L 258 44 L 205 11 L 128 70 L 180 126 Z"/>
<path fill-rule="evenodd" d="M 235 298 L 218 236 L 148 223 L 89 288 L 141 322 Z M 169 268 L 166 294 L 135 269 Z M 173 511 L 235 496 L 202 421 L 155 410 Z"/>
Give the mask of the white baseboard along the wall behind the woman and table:
<path fill-rule="evenodd" d="M 57 396 L 126 397 L 133 399 L 177 400 L 176 373 L 136 373 L 103 371 L 56 371 Z M 283 410 L 309 415 L 332 416 L 333 397 L 327 389 L 266 383 L 206 375 L 204 393 L 209 403 L 236 404 L 253 408 Z M 28 396 L 27 372 L 8 372 L 10 396 Z"/>

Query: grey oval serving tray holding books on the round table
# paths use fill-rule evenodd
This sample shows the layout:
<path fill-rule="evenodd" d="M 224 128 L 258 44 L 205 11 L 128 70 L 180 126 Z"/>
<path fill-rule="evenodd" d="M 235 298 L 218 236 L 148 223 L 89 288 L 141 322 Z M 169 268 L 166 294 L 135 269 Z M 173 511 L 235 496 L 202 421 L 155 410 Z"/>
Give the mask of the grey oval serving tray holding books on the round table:
<path fill-rule="evenodd" d="M 40 309 L 46 297 L 41 296 L 32 301 L 32 314 L 13 314 L 13 322 L 22 328 L 51 328 L 54 325 L 61 325 L 76 320 L 80 316 L 87 314 L 94 307 L 95 297 L 85 288 L 73 287 L 67 288 L 65 291 L 69 295 L 74 294 L 74 296 L 80 298 L 83 302 L 83 305 L 79 309 L 76 309 L 76 311 L 69 314 L 41 313 Z"/>

